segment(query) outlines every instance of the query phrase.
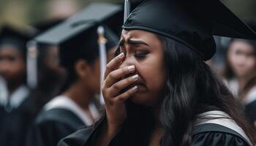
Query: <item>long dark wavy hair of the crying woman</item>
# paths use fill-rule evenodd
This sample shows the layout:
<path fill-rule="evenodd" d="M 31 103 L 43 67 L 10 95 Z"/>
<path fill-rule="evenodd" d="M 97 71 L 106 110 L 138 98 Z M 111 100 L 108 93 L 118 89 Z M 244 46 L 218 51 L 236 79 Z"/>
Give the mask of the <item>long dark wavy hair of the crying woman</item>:
<path fill-rule="evenodd" d="M 165 53 L 167 82 L 159 123 L 164 130 L 160 144 L 187 146 L 192 142 L 193 122 L 198 114 L 221 110 L 230 115 L 255 145 L 255 133 L 246 121 L 241 104 L 210 67 L 187 46 L 159 36 Z M 118 50 L 116 55 L 118 54 Z M 156 124 L 151 107 L 127 101 L 127 120 L 118 134 L 118 145 L 148 145 Z M 127 140 L 129 139 L 133 140 Z M 123 143 L 122 143 L 123 142 Z M 133 143 L 136 142 L 136 143 Z"/>

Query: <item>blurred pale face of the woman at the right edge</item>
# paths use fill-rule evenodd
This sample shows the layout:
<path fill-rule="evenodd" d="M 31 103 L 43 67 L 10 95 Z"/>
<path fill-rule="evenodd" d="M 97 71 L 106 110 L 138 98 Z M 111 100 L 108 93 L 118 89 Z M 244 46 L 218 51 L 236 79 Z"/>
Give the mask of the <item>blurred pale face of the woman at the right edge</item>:
<path fill-rule="evenodd" d="M 244 41 L 235 41 L 230 45 L 227 61 L 237 77 L 246 77 L 255 74 L 256 58 L 252 45 Z"/>

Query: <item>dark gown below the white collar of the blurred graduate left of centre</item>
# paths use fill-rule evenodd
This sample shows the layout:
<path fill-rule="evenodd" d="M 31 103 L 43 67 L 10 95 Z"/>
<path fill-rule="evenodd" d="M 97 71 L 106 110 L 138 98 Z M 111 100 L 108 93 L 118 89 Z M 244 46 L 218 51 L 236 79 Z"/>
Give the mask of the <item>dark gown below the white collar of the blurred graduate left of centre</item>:
<path fill-rule="evenodd" d="M 64 108 L 42 111 L 26 139 L 27 146 L 56 146 L 60 139 L 85 126 L 73 112 Z"/>

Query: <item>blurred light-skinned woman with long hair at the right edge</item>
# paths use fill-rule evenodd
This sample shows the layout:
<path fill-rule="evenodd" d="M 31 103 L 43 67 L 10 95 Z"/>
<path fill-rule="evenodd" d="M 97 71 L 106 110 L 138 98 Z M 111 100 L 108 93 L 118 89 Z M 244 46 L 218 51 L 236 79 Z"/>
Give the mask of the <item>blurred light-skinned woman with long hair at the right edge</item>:
<path fill-rule="evenodd" d="M 235 96 L 244 104 L 252 123 L 256 122 L 256 42 L 233 39 L 227 49 L 224 77 Z M 256 123 L 255 123 L 256 126 Z"/>

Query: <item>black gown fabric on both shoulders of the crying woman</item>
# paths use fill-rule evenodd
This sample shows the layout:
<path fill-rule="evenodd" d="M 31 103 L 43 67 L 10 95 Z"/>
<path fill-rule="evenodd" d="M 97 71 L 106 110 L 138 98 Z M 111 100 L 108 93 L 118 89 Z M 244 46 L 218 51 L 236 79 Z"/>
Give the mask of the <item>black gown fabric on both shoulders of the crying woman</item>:
<path fill-rule="evenodd" d="M 83 128 L 61 139 L 58 146 L 90 146 L 93 128 Z M 192 134 L 191 146 L 249 146 L 246 140 L 232 129 L 217 124 L 197 126 Z"/>

